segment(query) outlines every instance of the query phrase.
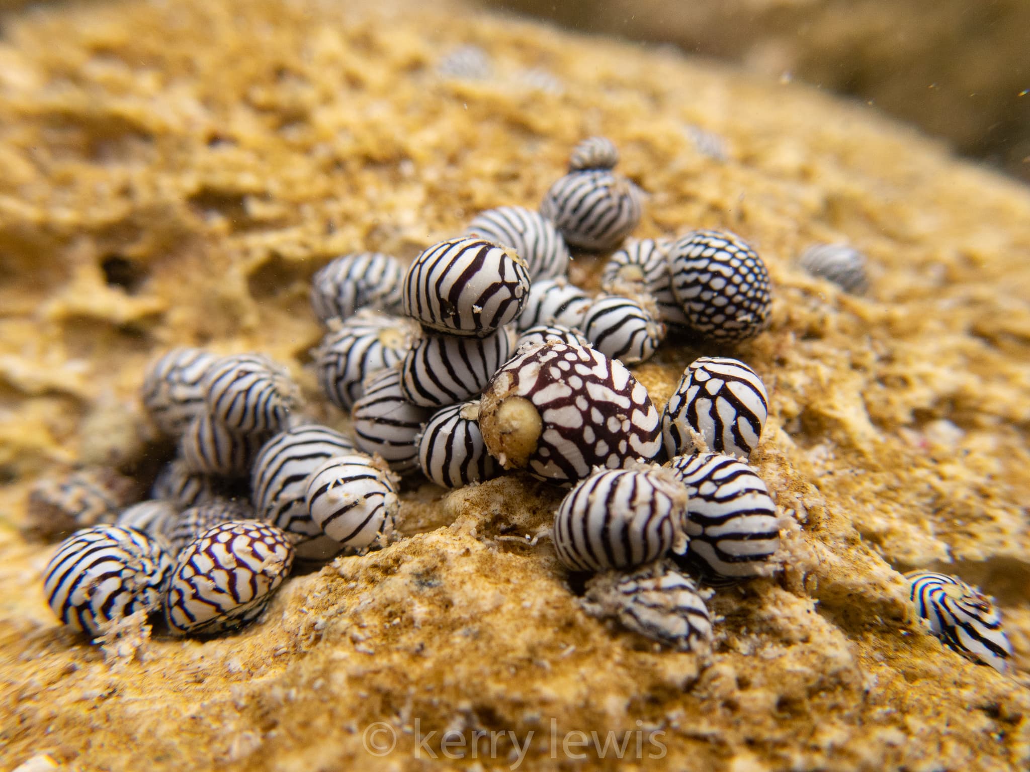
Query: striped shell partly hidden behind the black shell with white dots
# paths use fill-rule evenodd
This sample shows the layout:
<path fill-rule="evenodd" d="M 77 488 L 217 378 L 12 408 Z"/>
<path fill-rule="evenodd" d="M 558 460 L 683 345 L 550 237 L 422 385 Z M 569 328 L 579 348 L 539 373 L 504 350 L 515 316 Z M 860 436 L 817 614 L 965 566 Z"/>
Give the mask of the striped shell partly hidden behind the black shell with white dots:
<path fill-rule="evenodd" d="M 605 264 L 602 288 L 611 294 L 643 294 L 658 308 L 658 317 L 675 328 L 686 327 L 689 319 L 673 293 L 668 267 L 670 239 L 629 239 Z"/>

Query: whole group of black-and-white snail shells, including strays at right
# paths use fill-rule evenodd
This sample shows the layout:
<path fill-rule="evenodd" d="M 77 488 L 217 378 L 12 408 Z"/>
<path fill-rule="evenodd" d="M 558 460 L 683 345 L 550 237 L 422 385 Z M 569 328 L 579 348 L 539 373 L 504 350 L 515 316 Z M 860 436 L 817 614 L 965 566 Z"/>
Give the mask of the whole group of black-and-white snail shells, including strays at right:
<path fill-rule="evenodd" d="M 94 636 L 137 611 L 161 612 L 176 635 L 234 630 L 261 616 L 295 560 L 398 538 L 405 486 L 522 470 L 568 491 L 550 535 L 569 571 L 592 574 L 587 612 L 674 648 L 709 647 L 711 588 L 778 568 L 780 519 L 748 464 L 768 395 L 743 361 L 702 356 L 659 410 L 627 365 L 670 332 L 720 349 L 757 336 L 768 273 L 725 231 L 627 239 L 644 195 L 618 161 L 591 137 L 539 211 L 481 212 L 407 267 L 359 252 L 314 276 L 325 331 L 311 366 L 349 433 L 306 420 L 288 371 L 261 354 L 157 359 L 143 403 L 179 452 L 150 498 L 39 495 L 65 527 L 87 526 L 46 569 L 57 616 Z M 566 278 L 571 247 L 615 250 L 596 296 Z M 809 262 L 860 285 L 854 259 Z M 921 615 L 998 667 L 1010 650 L 990 602 L 934 581 L 913 578 Z"/>

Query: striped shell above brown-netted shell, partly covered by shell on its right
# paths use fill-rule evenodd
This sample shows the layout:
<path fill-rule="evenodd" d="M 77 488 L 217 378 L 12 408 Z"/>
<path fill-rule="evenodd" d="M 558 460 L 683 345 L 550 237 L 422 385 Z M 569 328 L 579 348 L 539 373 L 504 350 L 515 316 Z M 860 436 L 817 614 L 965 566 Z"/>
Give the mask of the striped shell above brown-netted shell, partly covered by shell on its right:
<path fill-rule="evenodd" d="M 269 440 L 254 459 L 250 500 L 258 518 L 290 534 L 299 558 L 322 560 L 340 551 L 311 519 L 304 496 L 317 467 L 353 451 L 354 444 L 340 432 L 302 424 Z"/>

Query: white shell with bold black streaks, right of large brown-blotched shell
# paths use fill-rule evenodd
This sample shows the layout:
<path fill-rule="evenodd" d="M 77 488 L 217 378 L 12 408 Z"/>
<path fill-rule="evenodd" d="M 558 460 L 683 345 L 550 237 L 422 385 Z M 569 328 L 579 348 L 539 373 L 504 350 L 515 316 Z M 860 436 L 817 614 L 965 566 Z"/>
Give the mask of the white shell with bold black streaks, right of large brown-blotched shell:
<path fill-rule="evenodd" d="M 758 447 L 768 417 L 762 379 L 739 359 L 702 356 L 683 373 L 661 417 L 665 454 L 672 458 L 695 450 L 690 432 L 708 450 L 747 459 Z"/>

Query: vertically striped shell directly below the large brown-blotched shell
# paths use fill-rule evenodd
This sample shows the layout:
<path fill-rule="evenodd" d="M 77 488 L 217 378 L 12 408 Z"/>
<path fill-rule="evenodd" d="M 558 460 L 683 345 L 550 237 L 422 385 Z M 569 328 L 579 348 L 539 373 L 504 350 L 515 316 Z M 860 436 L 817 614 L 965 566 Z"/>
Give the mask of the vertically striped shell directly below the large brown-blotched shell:
<path fill-rule="evenodd" d="M 683 549 L 687 489 L 667 470 L 598 470 L 581 480 L 554 517 L 554 550 L 573 571 L 650 563 Z"/>

